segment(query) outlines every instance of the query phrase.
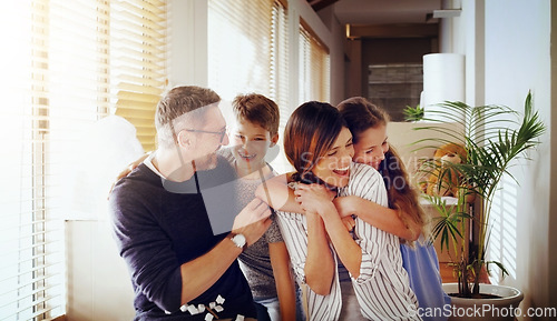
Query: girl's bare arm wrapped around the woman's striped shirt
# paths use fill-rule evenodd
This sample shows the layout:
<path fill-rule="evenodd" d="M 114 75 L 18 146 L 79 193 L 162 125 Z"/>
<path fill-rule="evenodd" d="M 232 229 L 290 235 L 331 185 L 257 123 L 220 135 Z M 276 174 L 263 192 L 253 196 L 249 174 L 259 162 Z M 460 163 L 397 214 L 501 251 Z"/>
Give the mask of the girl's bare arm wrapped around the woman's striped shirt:
<path fill-rule="evenodd" d="M 336 198 L 333 202 L 341 217 L 355 214 L 370 225 L 408 241 L 416 241 L 420 237 L 421 224 L 409 220 L 407 225 L 397 210 L 356 195 Z"/>

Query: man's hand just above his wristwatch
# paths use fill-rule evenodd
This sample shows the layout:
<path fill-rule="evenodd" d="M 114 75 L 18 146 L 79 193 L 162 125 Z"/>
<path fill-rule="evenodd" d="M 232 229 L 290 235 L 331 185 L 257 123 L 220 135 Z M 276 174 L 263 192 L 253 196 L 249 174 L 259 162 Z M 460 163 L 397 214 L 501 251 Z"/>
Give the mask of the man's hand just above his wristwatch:
<path fill-rule="evenodd" d="M 247 245 L 255 243 L 271 225 L 271 209 L 255 198 L 234 219 L 233 233 L 241 233 L 246 238 Z"/>

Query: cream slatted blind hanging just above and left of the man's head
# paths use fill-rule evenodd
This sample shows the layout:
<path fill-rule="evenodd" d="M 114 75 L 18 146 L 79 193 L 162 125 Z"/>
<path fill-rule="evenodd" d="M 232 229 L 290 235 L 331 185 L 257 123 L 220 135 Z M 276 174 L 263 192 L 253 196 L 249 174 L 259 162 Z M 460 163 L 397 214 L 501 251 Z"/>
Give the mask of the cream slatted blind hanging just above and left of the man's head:
<path fill-rule="evenodd" d="M 116 114 L 131 122 L 144 150 L 156 149 L 155 110 L 167 84 L 163 1 L 116 1 L 111 8 Z"/>

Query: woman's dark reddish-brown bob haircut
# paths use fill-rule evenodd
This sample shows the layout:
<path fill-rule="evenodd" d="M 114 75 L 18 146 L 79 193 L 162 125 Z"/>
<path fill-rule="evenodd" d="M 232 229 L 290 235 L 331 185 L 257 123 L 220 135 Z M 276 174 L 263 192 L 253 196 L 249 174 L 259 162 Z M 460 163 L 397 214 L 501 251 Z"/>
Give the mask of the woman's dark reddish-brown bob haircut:
<path fill-rule="evenodd" d="M 309 101 L 294 110 L 284 129 L 284 153 L 300 178 L 312 171 L 344 127 L 346 122 L 330 103 Z"/>

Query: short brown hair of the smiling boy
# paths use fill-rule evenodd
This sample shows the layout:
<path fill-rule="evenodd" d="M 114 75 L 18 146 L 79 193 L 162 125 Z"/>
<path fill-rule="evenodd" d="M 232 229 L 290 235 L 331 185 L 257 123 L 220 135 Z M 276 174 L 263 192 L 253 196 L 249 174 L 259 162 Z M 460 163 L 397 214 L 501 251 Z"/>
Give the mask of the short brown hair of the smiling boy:
<path fill-rule="evenodd" d="M 232 102 L 232 110 L 236 120 L 247 120 L 256 123 L 267 130 L 271 137 L 278 132 L 278 106 L 263 94 L 238 94 Z"/>

